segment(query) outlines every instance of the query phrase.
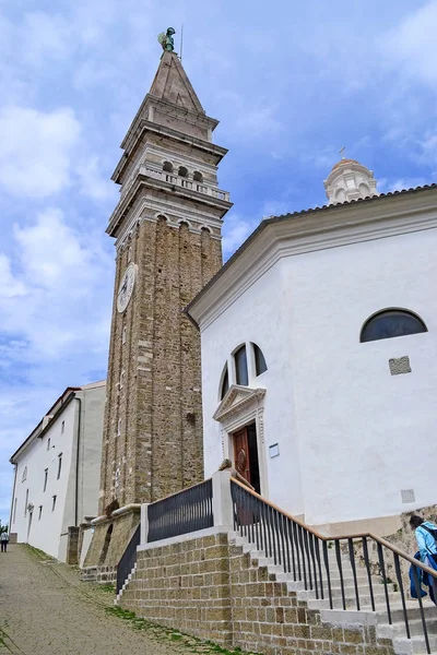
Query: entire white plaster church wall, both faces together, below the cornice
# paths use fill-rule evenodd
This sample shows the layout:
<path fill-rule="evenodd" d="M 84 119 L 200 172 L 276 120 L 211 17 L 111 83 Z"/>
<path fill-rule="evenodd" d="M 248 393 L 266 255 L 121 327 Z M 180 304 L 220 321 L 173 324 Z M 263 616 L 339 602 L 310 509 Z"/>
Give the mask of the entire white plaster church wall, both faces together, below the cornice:
<path fill-rule="evenodd" d="M 312 525 L 435 504 L 436 247 L 428 229 L 283 258 L 208 324 L 205 474 L 222 458 L 212 415 L 225 358 L 255 342 L 269 367 L 249 384 L 267 389 L 271 500 Z M 417 313 L 428 332 L 359 343 L 365 321 L 387 308 Z M 404 356 L 412 372 L 392 376 L 389 359 Z M 280 454 L 270 458 L 275 442 Z"/>

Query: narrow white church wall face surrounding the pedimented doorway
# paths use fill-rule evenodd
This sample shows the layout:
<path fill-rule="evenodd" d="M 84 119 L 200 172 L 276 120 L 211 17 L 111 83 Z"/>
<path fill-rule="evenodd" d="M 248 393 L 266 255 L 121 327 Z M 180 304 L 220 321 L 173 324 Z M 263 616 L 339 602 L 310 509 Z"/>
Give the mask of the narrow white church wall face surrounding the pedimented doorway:
<path fill-rule="evenodd" d="M 276 265 L 202 332 L 204 465 L 205 476 L 209 477 L 223 458 L 221 426 L 212 416 L 220 404 L 220 381 L 226 357 L 231 372 L 231 354 L 241 343 L 256 343 L 268 366 L 264 373 L 249 380 L 249 386 L 268 390 L 263 412 L 264 444 L 259 453 L 264 457 L 268 476 L 263 493 L 267 490 L 265 495 L 272 500 L 300 514 L 303 504 L 293 410 L 294 376 L 287 336 L 290 325 L 287 312 L 284 311 L 287 302 L 288 290 L 282 283 L 282 269 Z M 229 382 L 235 380 L 231 379 Z M 279 443 L 280 456 L 270 458 L 269 445 L 273 443 Z M 233 458 L 227 434 L 224 454 Z"/>

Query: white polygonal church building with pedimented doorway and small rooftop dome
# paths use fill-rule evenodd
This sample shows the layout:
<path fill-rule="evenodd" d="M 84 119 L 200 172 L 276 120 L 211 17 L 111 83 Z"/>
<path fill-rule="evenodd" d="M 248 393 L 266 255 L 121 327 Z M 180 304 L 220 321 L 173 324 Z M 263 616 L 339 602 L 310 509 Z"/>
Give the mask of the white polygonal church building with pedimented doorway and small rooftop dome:
<path fill-rule="evenodd" d="M 310 525 L 390 534 L 437 503 L 437 186 L 378 196 L 343 159 L 326 188 L 329 206 L 264 219 L 187 308 L 205 476 L 229 456 Z"/>

